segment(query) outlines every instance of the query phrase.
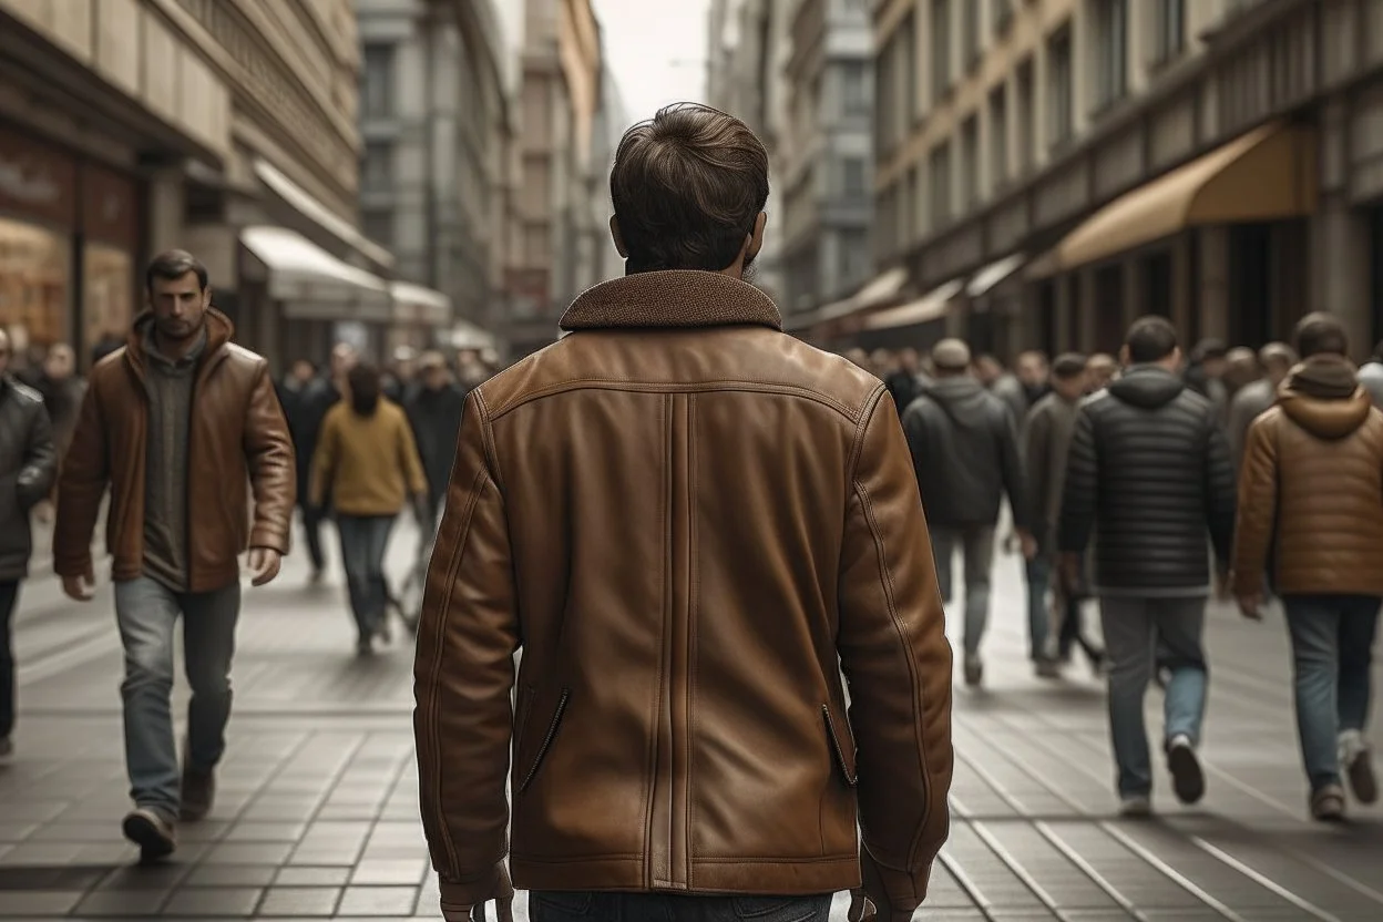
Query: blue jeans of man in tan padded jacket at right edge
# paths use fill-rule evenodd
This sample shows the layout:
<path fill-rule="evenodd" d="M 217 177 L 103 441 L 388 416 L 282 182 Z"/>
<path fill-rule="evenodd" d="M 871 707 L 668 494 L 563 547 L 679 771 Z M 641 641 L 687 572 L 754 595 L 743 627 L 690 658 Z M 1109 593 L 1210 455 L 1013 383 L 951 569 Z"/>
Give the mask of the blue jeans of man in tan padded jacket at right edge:
<path fill-rule="evenodd" d="M 1372 596 L 1283 596 L 1296 675 L 1297 734 L 1311 789 L 1340 782 L 1337 741 L 1368 726 L 1373 637 Z"/>

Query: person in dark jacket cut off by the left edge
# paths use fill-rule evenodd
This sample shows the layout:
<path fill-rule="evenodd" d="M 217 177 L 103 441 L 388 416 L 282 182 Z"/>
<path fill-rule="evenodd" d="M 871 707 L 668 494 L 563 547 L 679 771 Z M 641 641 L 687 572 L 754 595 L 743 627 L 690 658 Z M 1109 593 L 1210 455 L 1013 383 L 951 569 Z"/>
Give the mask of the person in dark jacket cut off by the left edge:
<path fill-rule="evenodd" d="M 14 612 L 29 575 L 29 513 L 48 498 L 57 470 L 43 397 L 10 375 L 10 335 L 0 329 L 0 759 L 14 752 Z"/>

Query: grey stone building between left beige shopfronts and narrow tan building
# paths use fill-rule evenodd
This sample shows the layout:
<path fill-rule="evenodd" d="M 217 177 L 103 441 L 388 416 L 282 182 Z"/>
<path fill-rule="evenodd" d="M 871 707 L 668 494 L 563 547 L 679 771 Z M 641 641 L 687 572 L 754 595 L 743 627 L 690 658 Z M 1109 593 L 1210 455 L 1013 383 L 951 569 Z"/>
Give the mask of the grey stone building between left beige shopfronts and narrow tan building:
<path fill-rule="evenodd" d="M 401 304 L 390 346 L 431 346 L 454 321 L 491 328 L 506 312 L 496 250 L 513 218 L 498 15 L 490 0 L 355 0 L 355 10 L 364 231 L 394 253 L 396 278 L 445 296 Z"/>

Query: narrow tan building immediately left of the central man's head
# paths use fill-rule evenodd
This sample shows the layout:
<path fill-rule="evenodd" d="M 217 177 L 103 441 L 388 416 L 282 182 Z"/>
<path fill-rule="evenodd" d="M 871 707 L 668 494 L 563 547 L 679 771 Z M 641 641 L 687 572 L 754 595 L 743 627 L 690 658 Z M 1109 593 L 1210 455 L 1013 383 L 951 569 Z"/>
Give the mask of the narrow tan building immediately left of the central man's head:
<path fill-rule="evenodd" d="M 595 276 L 592 133 L 600 28 L 589 0 L 526 0 L 517 124 L 517 224 L 506 268 L 512 355 L 556 340 L 557 321 Z"/>

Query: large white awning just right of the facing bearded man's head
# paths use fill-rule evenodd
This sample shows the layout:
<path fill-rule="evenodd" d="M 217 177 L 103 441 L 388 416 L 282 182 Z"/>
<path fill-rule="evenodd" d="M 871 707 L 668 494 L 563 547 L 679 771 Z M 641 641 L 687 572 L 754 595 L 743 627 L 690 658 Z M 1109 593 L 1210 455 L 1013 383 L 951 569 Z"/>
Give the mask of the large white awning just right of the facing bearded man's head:
<path fill-rule="evenodd" d="M 296 231 L 257 225 L 241 231 L 241 243 L 268 270 L 268 293 L 289 319 L 342 319 L 387 323 L 389 283 L 347 265 Z"/>

